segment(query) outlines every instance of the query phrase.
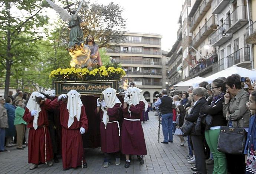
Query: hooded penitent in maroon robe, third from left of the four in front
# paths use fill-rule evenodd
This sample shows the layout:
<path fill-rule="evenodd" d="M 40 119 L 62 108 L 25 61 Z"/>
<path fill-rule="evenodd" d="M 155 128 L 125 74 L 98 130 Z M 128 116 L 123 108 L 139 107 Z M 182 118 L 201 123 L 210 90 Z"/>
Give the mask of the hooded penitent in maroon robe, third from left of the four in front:
<path fill-rule="evenodd" d="M 111 153 L 115 153 L 115 165 L 121 164 L 120 161 L 120 126 L 119 109 L 121 101 L 116 97 L 114 88 L 106 88 L 102 91 L 104 99 L 97 99 L 96 111 L 101 117 L 101 151 L 104 152 L 103 167 L 111 164 Z"/>

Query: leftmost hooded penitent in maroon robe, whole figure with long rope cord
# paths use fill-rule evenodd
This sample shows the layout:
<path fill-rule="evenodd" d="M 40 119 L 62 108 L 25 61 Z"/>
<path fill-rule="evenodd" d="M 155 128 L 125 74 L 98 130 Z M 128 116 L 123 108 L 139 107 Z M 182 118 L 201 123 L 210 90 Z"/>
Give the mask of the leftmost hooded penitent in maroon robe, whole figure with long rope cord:
<path fill-rule="evenodd" d="M 33 165 L 29 170 L 37 168 L 39 163 L 48 162 L 52 166 L 52 143 L 48 131 L 48 114 L 50 100 L 43 94 L 33 92 L 27 102 L 23 120 L 26 121 L 29 129 L 29 163 Z"/>

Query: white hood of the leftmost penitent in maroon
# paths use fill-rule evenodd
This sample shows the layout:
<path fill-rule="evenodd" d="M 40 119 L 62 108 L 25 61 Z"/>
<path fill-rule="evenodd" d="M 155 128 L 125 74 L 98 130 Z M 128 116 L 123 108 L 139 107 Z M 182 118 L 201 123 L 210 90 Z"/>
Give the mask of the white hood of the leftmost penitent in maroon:
<path fill-rule="evenodd" d="M 33 92 L 29 97 L 29 101 L 27 102 L 27 108 L 29 109 L 30 112 L 33 110 L 37 110 L 37 114 L 34 116 L 34 120 L 33 120 L 33 127 L 35 128 L 35 130 L 37 129 L 37 120 L 38 120 L 39 113 L 41 111 L 40 104 L 37 103 L 36 97 L 41 97 L 43 99 L 45 98 L 45 96 L 38 92 Z"/>

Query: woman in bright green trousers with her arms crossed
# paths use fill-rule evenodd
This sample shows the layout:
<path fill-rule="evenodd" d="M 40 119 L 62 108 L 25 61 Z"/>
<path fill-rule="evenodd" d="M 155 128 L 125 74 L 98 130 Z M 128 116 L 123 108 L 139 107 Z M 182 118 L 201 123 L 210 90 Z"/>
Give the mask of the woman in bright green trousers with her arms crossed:
<path fill-rule="evenodd" d="M 201 112 L 212 117 L 210 129 L 204 132 L 206 142 L 213 154 L 214 167 L 213 173 L 226 174 L 227 173 L 227 160 L 226 154 L 219 152 L 218 139 L 220 135 L 220 126 L 226 126 L 226 120 L 223 117 L 224 94 L 226 92 L 225 83 L 223 80 L 216 79 L 211 83 L 210 90 L 213 94 L 207 104 L 201 108 Z"/>

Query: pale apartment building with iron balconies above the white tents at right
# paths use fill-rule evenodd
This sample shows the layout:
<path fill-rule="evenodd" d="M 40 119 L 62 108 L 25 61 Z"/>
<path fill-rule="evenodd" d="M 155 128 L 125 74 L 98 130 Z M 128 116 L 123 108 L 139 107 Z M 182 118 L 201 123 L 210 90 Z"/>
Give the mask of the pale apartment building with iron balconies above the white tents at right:
<path fill-rule="evenodd" d="M 183 75 L 177 82 L 207 77 L 233 65 L 255 67 L 256 0 L 183 0 L 181 16 Z M 172 52 L 176 45 L 177 41 Z M 174 68 L 175 61 L 170 59 L 169 65 Z M 175 79 L 175 73 L 169 75 Z"/>

